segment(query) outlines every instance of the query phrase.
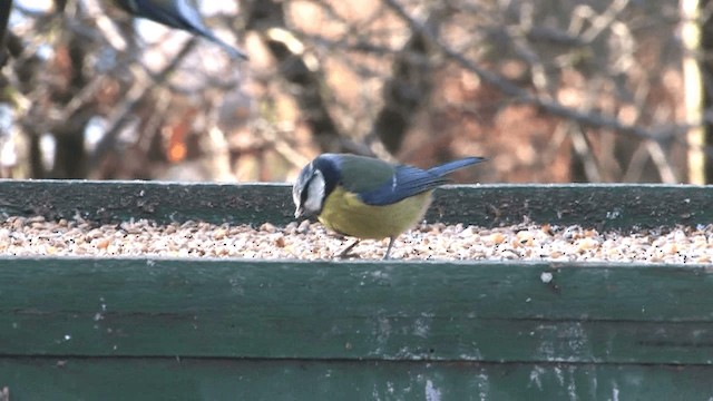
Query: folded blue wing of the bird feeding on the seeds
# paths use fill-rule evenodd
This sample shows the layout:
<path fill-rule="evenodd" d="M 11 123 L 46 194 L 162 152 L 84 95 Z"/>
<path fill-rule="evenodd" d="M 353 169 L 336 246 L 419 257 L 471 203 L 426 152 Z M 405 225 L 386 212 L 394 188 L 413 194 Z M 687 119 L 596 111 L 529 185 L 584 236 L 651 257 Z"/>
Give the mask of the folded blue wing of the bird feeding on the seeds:
<path fill-rule="evenodd" d="M 362 193 L 359 197 L 368 205 L 385 206 L 434 189 L 446 183 L 448 183 L 447 178 L 433 173 L 412 166 L 397 166 L 392 179 L 373 190 Z"/>

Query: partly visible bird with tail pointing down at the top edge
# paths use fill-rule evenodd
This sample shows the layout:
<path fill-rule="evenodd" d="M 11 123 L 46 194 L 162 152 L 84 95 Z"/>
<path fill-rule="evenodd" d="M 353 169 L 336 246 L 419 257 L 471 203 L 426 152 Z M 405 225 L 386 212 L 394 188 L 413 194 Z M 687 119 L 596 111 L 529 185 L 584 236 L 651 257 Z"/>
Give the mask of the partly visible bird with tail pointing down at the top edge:
<path fill-rule="evenodd" d="M 247 55 L 224 42 L 206 28 L 195 2 L 189 0 L 114 0 L 114 2 L 136 17 L 202 36 L 219 45 L 232 58 L 247 60 Z"/>

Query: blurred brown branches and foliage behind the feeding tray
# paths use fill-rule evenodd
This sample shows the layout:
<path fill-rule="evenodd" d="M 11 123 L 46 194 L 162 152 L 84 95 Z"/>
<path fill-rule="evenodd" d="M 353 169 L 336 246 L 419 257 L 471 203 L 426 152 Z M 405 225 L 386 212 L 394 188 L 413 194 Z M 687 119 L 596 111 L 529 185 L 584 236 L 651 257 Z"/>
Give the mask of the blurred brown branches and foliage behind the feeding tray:
<path fill-rule="evenodd" d="M 188 0 L 188 2 L 191 2 Z M 323 151 L 482 183 L 710 183 L 711 2 L 3 0 L 0 176 L 292 180 Z"/>

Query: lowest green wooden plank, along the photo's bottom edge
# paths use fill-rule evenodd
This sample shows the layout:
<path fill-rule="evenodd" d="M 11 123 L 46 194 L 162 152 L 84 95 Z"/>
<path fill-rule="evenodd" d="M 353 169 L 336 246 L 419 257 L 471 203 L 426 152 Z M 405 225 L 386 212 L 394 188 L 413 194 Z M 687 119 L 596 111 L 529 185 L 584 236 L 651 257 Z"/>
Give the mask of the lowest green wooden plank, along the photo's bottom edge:
<path fill-rule="evenodd" d="M 713 366 L 3 359 L 12 400 L 707 400 Z"/>

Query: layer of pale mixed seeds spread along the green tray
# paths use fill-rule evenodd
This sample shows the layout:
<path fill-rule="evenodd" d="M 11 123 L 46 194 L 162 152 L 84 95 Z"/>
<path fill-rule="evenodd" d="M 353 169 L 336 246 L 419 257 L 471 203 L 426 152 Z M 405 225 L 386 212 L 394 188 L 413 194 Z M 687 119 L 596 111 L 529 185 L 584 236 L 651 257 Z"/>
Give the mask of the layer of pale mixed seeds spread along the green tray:
<path fill-rule="evenodd" d="M 164 256 L 329 260 L 352 238 L 339 238 L 319 223 L 158 225 L 140 219 L 115 225 L 43 217 L 0 222 L 0 255 Z M 381 258 L 388 239 L 363 241 L 353 253 Z M 498 228 L 422 224 L 401 235 L 400 260 L 522 260 L 711 263 L 713 225 L 599 233 L 579 226 L 522 224 Z"/>

